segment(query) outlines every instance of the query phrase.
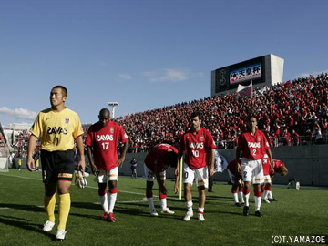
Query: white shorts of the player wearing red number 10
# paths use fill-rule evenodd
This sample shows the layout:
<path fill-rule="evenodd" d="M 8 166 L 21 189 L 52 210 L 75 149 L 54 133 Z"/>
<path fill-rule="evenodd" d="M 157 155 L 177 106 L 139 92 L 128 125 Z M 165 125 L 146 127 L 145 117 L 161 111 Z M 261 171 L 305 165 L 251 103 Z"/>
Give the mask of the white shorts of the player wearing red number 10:
<path fill-rule="evenodd" d="M 209 171 L 207 167 L 200 169 L 190 169 L 186 163 L 183 164 L 183 183 L 189 183 L 192 185 L 195 179 L 197 187 L 205 186 L 209 187 Z"/>

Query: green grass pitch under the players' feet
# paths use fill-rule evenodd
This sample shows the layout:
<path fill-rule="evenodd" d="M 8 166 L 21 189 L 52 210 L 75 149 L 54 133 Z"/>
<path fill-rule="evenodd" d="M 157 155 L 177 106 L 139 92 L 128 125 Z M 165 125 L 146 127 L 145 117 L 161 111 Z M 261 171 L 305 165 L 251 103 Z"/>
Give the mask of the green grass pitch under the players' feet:
<path fill-rule="evenodd" d="M 272 236 L 328 234 L 328 190 L 274 187 L 272 193 L 278 201 L 262 203 L 264 217 L 258 218 L 253 216 L 252 192 L 251 215 L 244 217 L 242 208 L 233 206 L 231 186 L 217 184 L 213 193 L 207 193 L 206 221 L 198 221 L 195 214 L 185 222 L 184 201 L 174 194 L 172 181 L 168 180 L 168 205 L 176 213 L 151 217 L 144 195 L 145 179 L 119 177 L 117 222 L 108 223 L 98 219 L 102 210 L 97 183 L 92 179 L 87 178 L 86 189 L 71 188 L 67 240 L 57 242 L 55 229 L 41 229 L 46 221 L 41 172 L 11 169 L 0 173 L 0 245 L 272 245 Z M 195 191 L 193 187 L 194 210 Z M 159 211 L 158 197 L 154 199 Z"/>

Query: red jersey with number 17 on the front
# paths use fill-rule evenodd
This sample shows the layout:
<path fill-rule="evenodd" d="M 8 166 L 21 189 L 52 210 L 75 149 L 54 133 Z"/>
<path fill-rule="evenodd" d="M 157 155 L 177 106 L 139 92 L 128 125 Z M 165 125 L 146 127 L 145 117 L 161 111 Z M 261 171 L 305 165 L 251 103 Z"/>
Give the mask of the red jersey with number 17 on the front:
<path fill-rule="evenodd" d="M 97 122 L 88 129 L 86 145 L 93 148 L 97 169 L 111 170 L 118 167 L 118 141 L 125 143 L 128 136 L 115 122 L 109 121 L 105 127 Z"/>

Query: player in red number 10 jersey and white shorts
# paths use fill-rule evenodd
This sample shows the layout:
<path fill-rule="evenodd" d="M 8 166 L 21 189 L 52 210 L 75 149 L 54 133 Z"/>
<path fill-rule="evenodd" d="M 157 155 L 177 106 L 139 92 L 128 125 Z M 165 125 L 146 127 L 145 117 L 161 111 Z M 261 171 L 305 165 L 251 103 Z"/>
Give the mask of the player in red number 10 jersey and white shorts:
<path fill-rule="evenodd" d="M 184 197 L 188 212 L 183 220 L 189 221 L 193 216 L 191 185 L 193 180 L 199 190 L 199 208 L 198 219 L 204 219 L 205 206 L 205 188 L 208 188 L 209 172 L 210 176 L 214 174 L 214 159 L 215 149 L 213 138 L 210 132 L 204 128 L 200 128 L 201 113 L 196 111 L 191 114 L 190 129 L 181 137 L 179 147 L 179 159 L 175 174 L 179 174 L 179 161 L 183 152 L 186 152 L 183 165 L 183 183 L 184 183 Z M 207 163 L 210 163 L 210 170 L 207 168 Z"/>

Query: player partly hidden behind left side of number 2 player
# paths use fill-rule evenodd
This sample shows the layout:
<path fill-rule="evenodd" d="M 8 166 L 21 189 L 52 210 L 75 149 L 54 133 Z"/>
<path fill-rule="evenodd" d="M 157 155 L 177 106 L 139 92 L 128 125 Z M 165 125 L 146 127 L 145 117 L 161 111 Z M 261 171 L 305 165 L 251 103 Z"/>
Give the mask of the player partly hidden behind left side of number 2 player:
<path fill-rule="evenodd" d="M 244 184 L 241 179 L 241 171 L 238 171 L 238 169 L 236 169 L 237 168 L 236 166 L 237 166 L 236 159 L 232 159 L 231 162 L 229 162 L 227 169 L 228 169 L 229 178 L 231 179 L 231 183 L 232 183 L 231 193 L 234 200 L 234 204 L 236 207 L 241 207 L 245 203 L 242 194 Z M 241 197 L 241 203 L 238 200 L 238 193 Z"/>

